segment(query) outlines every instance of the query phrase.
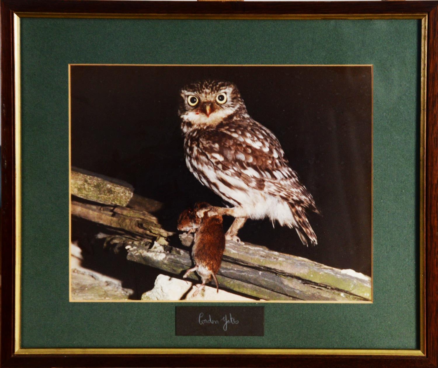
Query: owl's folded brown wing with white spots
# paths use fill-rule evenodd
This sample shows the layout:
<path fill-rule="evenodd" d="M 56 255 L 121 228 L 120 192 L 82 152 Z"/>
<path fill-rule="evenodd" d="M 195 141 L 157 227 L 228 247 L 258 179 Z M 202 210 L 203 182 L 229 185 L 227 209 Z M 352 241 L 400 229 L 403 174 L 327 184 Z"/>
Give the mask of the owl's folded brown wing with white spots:
<path fill-rule="evenodd" d="M 318 212 L 313 197 L 284 158 L 279 141 L 261 124 L 205 131 L 198 148 L 216 170 L 251 188 Z"/>

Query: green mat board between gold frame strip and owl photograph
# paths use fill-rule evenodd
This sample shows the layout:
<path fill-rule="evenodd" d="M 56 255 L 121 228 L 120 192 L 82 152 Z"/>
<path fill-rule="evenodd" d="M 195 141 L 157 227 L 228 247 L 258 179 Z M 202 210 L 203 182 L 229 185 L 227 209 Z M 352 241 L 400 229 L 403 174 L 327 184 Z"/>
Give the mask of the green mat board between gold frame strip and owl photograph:
<path fill-rule="evenodd" d="M 21 18 L 21 347 L 418 349 L 420 35 L 418 20 Z M 177 303 L 69 302 L 69 63 L 373 64 L 374 302 L 267 303 L 258 337 L 175 336 Z"/>

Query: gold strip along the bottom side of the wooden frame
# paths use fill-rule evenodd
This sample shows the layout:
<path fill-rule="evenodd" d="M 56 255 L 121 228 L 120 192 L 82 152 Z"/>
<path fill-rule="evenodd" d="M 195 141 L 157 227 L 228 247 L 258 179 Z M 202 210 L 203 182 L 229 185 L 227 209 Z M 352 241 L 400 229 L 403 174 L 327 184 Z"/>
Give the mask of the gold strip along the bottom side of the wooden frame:
<path fill-rule="evenodd" d="M 191 336 L 184 336 L 191 337 Z M 194 337 L 194 336 L 193 336 Z M 27 354 L 286 354 L 286 355 L 386 355 L 423 357 L 421 350 L 395 349 L 202 349 L 202 348 L 49 348 L 18 349 L 17 355 Z"/>

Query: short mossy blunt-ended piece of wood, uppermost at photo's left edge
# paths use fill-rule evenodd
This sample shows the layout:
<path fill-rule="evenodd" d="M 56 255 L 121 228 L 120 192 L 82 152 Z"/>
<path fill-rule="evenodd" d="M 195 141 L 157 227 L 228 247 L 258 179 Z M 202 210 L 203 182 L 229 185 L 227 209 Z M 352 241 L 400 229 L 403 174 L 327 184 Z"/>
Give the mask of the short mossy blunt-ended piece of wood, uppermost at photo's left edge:
<path fill-rule="evenodd" d="M 95 174 L 80 168 L 71 168 L 71 194 L 104 204 L 126 206 L 134 194 L 134 187 L 122 180 Z"/>

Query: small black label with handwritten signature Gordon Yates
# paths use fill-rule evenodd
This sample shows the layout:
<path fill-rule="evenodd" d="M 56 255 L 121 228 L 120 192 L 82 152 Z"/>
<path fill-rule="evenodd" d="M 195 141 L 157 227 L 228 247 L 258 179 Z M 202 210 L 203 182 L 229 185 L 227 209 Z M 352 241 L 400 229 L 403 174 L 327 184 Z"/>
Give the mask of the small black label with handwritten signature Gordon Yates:
<path fill-rule="evenodd" d="M 264 336 L 265 307 L 175 307 L 177 336 Z"/>

